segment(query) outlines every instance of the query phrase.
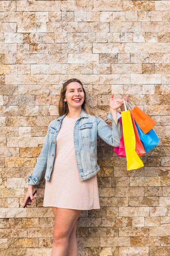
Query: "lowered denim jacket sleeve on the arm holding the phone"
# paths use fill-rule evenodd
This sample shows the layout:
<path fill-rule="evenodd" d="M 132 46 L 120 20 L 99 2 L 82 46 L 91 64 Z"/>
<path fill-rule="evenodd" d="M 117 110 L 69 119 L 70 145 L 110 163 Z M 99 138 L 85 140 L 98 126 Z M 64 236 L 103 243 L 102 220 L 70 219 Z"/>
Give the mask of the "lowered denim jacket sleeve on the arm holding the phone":
<path fill-rule="evenodd" d="M 50 122 L 51 124 L 51 122 Z M 50 124 L 48 126 L 48 130 L 50 128 Z M 44 144 L 41 150 L 41 153 L 39 154 L 39 157 L 37 159 L 37 162 L 35 164 L 33 174 L 28 177 L 28 185 L 37 185 L 41 181 L 42 177 L 45 175 L 46 168 L 47 168 L 47 158 L 48 158 L 48 149 L 49 149 L 49 135 L 48 130 L 46 133 L 46 137 L 44 140 Z"/>

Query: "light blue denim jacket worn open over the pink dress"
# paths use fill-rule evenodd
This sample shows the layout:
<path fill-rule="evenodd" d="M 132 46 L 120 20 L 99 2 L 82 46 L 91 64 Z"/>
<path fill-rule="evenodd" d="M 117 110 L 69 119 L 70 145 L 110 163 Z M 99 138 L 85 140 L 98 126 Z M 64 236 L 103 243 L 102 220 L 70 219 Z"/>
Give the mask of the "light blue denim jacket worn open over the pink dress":
<path fill-rule="evenodd" d="M 65 114 L 50 122 L 33 174 L 28 177 L 29 185 L 32 184 L 37 187 L 44 175 L 47 182 L 50 180 L 55 156 L 56 137 L 64 117 Z M 81 181 L 93 177 L 100 171 L 100 166 L 97 164 L 97 137 L 111 146 L 118 147 L 120 145 L 120 121 L 116 126 L 111 112 L 109 112 L 107 119 L 112 120 L 111 129 L 105 122 L 107 119 L 104 121 L 99 116 L 97 117 L 87 114 L 82 108 L 81 116 L 74 125 L 74 147 Z M 117 119 L 120 117 L 120 113 L 117 112 Z"/>

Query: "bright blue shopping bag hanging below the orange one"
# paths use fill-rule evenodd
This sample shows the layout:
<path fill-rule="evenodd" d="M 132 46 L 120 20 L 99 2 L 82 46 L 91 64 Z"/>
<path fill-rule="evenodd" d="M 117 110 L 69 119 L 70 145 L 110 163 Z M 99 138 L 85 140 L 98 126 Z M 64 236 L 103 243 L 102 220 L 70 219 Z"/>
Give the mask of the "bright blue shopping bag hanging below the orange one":
<path fill-rule="evenodd" d="M 150 151 L 152 148 L 157 146 L 157 144 L 159 142 L 159 138 L 157 137 L 157 135 L 153 129 L 151 129 L 149 132 L 144 134 L 144 132 L 142 132 L 142 130 L 137 125 L 136 121 L 135 121 L 135 125 L 137 128 L 137 132 L 139 134 L 139 138 L 140 138 L 146 152 Z"/>

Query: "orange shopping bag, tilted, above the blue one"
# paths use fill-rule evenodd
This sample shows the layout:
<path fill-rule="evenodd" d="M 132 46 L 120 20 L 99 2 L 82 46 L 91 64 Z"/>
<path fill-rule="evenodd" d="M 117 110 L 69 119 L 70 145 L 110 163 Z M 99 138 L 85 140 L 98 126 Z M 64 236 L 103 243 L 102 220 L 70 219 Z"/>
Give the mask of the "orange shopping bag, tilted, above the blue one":
<path fill-rule="evenodd" d="M 141 128 L 141 130 L 146 134 L 149 132 L 156 124 L 153 119 L 151 119 L 148 115 L 146 115 L 140 108 L 135 106 L 130 112 L 133 115 L 133 118 L 135 119 L 138 126 Z"/>

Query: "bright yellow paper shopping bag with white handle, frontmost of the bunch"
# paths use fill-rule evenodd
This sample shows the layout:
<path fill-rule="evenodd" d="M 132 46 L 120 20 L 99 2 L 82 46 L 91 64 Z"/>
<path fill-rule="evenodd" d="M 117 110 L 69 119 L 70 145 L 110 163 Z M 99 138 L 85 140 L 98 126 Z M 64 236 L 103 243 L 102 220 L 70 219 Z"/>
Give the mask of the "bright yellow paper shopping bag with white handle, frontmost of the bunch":
<path fill-rule="evenodd" d="M 132 119 L 130 111 L 126 108 L 126 103 L 124 101 L 124 107 L 126 111 L 122 111 L 122 128 L 124 137 L 124 148 L 126 152 L 127 160 L 127 171 L 138 169 L 143 167 L 144 164 L 142 160 L 138 157 L 136 148 L 135 132 L 133 129 Z"/>

